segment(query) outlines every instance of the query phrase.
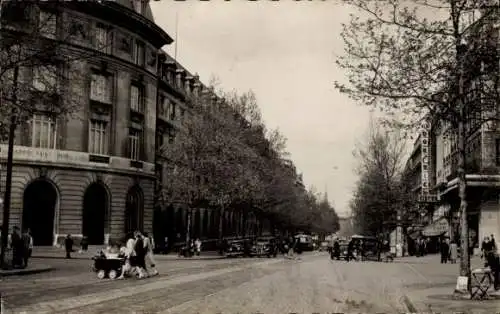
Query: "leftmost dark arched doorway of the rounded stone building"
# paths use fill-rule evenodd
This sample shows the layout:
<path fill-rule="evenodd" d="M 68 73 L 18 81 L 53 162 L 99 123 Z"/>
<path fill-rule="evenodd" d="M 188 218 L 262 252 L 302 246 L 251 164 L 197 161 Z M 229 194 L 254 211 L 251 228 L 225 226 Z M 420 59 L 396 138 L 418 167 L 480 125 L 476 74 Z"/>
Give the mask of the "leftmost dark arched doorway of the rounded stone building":
<path fill-rule="evenodd" d="M 46 180 L 36 180 L 24 190 L 22 227 L 29 228 L 34 245 L 52 245 L 57 190 Z"/>

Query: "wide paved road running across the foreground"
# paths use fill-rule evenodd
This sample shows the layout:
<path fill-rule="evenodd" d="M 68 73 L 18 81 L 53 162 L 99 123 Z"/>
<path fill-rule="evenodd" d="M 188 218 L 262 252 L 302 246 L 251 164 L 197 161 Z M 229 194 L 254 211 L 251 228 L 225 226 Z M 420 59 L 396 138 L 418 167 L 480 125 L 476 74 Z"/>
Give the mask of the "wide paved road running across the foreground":
<path fill-rule="evenodd" d="M 404 313 L 432 304 L 441 313 L 476 314 L 495 313 L 499 305 L 452 301 L 457 266 L 431 258 L 346 263 L 306 254 L 301 260 L 161 261 L 161 276 L 125 281 L 99 281 L 89 272 L 61 267 L 51 275 L 4 280 L 7 308 L 15 313 Z M 448 299 L 439 296 L 440 287 L 449 290 Z"/>

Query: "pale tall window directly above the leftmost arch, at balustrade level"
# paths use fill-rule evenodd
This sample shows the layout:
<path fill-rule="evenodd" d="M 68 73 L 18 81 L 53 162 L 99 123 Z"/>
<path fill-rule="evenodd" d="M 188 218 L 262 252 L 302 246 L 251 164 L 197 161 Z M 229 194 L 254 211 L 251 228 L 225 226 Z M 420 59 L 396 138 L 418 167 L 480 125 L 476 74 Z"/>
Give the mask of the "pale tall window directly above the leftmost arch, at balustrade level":
<path fill-rule="evenodd" d="M 44 114 L 34 114 L 31 119 L 31 146 L 55 149 L 57 122 Z"/>

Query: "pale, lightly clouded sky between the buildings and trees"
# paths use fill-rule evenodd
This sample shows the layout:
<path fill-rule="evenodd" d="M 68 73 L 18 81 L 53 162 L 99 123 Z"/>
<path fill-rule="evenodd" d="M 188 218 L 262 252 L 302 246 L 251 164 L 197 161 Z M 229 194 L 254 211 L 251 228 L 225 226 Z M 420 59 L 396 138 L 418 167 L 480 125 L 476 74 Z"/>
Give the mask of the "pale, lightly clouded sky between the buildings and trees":
<path fill-rule="evenodd" d="M 369 110 L 334 88 L 343 53 L 336 1 L 151 2 L 156 23 L 177 43 L 177 60 L 208 84 L 254 91 L 266 125 L 288 139 L 288 151 L 307 186 L 327 192 L 339 215 L 349 211 Z M 177 38 L 176 38 L 176 16 Z M 174 56 L 175 44 L 165 50 Z"/>

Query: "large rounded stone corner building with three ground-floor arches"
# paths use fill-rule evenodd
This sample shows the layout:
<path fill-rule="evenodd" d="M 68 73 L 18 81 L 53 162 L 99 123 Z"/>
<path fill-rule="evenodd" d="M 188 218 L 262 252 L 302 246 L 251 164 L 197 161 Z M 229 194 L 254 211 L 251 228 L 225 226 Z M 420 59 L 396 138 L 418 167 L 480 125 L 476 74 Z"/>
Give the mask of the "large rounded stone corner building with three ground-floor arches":
<path fill-rule="evenodd" d="M 83 91 L 76 112 L 57 119 L 36 113 L 17 129 L 10 226 L 30 228 L 35 245 L 66 234 L 102 244 L 136 229 L 151 232 L 157 64 L 172 39 L 144 1 L 40 2 L 23 10 L 35 25 L 45 23 L 48 40 L 91 57 L 72 65 L 85 78 L 66 82 Z M 2 144 L 2 178 L 6 156 Z"/>

